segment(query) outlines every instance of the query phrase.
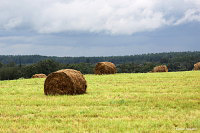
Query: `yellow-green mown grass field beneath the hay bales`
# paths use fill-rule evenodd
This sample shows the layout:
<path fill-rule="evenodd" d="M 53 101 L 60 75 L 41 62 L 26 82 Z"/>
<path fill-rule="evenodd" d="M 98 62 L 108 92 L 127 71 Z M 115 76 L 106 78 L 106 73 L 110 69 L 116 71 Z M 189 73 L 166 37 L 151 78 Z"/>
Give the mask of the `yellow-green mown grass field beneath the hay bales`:
<path fill-rule="evenodd" d="M 200 71 L 85 75 L 87 94 L 0 81 L 0 132 L 200 132 Z"/>

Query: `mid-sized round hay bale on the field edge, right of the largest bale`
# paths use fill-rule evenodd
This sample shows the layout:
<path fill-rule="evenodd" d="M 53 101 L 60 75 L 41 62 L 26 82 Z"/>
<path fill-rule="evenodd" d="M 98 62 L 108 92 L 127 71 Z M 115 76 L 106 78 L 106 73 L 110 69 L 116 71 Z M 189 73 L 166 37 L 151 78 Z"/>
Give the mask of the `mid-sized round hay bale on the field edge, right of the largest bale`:
<path fill-rule="evenodd" d="M 115 74 L 117 69 L 111 62 L 99 62 L 96 64 L 94 73 L 95 74 Z"/>

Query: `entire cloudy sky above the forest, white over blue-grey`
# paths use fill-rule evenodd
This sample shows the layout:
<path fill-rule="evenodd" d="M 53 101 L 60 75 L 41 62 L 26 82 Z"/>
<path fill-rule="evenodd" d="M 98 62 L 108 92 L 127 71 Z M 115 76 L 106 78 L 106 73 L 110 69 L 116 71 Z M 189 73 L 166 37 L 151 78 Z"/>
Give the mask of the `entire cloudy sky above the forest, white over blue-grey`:
<path fill-rule="evenodd" d="M 0 0 L 0 55 L 200 51 L 200 0 Z"/>

